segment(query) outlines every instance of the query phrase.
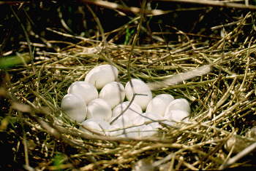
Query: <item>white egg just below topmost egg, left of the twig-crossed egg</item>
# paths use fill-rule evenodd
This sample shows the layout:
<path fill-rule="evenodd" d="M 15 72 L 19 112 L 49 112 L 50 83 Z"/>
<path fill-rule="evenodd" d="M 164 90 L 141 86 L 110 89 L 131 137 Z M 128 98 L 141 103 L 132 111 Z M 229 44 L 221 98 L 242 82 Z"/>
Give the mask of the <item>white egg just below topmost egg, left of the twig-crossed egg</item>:
<path fill-rule="evenodd" d="M 111 108 L 114 108 L 119 103 L 122 103 L 125 98 L 124 86 L 120 82 L 110 82 L 106 84 L 99 92 L 99 98 L 102 98 Z"/>

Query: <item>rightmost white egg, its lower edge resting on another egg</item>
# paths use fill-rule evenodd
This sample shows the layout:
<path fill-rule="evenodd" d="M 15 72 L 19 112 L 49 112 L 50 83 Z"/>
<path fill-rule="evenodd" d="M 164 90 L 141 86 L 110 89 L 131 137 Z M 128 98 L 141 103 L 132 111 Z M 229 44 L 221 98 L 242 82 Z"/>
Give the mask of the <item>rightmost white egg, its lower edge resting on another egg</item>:
<path fill-rule="evenodd" d="M 166 111 L 172 110 L 187 111 L 189 114 L 191 112 L 189 102 L 184 98 L 178 98 L 176 100 L 171 101 L 170 104 L 167 106 Z"/>

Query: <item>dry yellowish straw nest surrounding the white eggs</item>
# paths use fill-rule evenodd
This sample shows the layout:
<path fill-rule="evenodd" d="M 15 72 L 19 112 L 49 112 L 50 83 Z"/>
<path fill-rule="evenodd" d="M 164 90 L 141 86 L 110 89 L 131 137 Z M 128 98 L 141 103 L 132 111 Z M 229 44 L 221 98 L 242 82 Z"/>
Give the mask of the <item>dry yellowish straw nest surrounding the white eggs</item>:
<path fill-rule="evenodd" d="M 70 44 L 56 52 L 40 52 L 34 64 L 2 73 L 1 101 L 6 116 L 1 131 L 12 143 L 15 161 L 36 170 L 217 170 L 252 167 L 255 143 L 255 52 L 253 35 L 244 35 L 248 18 L 233 31 L 211 41 L 185 39 L 144 46 Z M 242 37 L 242 38 L 241 38 Z M 234 47 L 233 42 L 236 42 Z M 83 81 L 95 65 L 118 68 L 119 81 L 160 81 L 203 65 L 211 72 L 160 90 L 186 98 L 192 108 L 188 123 L 165 126 L 149 138 L 114 138 L 81 132 L 80 124 L 61 113 L 61 99 L 74 81 Z M 34 72 L 33 71 L 34 68 Z M 251 135 L 251 136 L 249 136 Z M 233 143 L 227 143 L 232 139 Z M 240 159 L 240 160 L 238 160 Z M 31 166 L 31 167 L 29 167 Z"/>

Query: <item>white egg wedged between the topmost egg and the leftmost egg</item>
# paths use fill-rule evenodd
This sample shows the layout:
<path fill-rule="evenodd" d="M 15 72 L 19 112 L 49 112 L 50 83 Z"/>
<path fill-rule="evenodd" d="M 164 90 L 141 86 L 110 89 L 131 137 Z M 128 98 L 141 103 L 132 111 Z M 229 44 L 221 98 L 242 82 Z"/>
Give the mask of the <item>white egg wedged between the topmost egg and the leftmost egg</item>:
<path fill-rule="evenodd" d="M 85 100 L 88 104 L 91 100 L 98 98 L 97 89 L 86 81 L 75 81 L 69 86 L 68 94 L 75 94 Z"/>

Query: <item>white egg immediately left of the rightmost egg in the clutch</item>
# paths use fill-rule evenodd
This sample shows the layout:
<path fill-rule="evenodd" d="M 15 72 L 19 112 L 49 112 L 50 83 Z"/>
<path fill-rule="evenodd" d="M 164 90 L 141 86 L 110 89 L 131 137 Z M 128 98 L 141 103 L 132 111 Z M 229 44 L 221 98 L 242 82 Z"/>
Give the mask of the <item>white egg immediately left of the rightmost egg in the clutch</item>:
<path fill-rule="evenodd" d="M 157 95 L 148 103 L 146 112 L 151 112 L 154 114 L 159 114 L 161 116 L 164 116 L 167 106 L 173 100 L 174 98 L 172 95 L 168 95 L 168 94 Z"/>

